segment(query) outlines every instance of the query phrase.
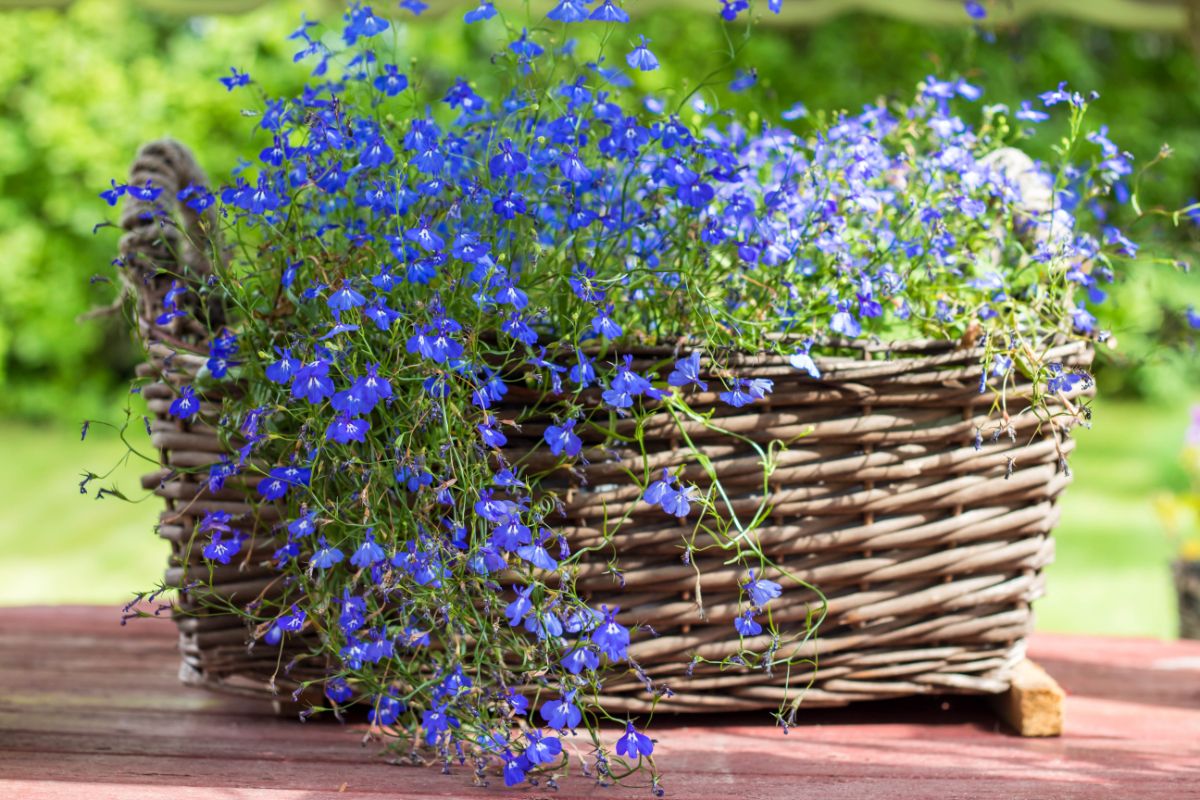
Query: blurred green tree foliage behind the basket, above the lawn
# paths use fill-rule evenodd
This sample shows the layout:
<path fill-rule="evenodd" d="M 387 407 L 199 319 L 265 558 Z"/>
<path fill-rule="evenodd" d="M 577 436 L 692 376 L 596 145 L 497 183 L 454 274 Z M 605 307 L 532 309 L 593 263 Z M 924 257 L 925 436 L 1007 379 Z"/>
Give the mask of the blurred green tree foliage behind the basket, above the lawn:
<path fill-rule="evenodd" d="M 90 283 L 108 273 L 113 257 L 112 237 L 92 234 L 95 196 L 125 175 L 139 144 L 161 136 L 186 142 L 214 173 L 232 168 L 246 127 L 238 124 L 239 103 L 216 79 L 233 64 L 254 72 L 264 56 L 286 50 L 270 34 L 281 18 L 299 19 L 305 8 L 312 13 L 322 5 L 288 0 L 242 16 L 187 19 L 130 0 L 80 0 L 65 12 L 0 16 L 8 41 L 37 43 L 0 48 L 0 413 L 78 419 L 109 407 L 134 355 L 118 317 L 76 323 L 115 295 L 110 284 Z M 656 13 L 640 28 L 676 71 L 655 73 L 664 84 L 695 80 L 714 50 L 738 47 L 702 14 Z M 403 35 L 419 37 L 440 62 L 464 62 L 482 47 L 457 14 L 422 20 Z M 815 29 L 763 28 L 755 36 L 756 60 L 740 67 L 757 71 L 776 112 L 796 101 L 810 109 L 858 109 L 952 70 L 982 84 L 992 103 L 1014 103 L 1060 80 L 1094 89 L 1100 101 L 1093 119 L 1106 121 L 1139 164 L 1164 143 L 1172 146 L 1169 168 L 1142 180 L 1144 206 L 1177 207 L 1200 196 L 1200 68 L 1182 35 L 1043 19 L 996 31 L 989 43 L 966 24 L 930 28 L 856 16 Z M 938 60 L 934 53 L 959 55 Z M 304 74 L 272 70 L 254 78 L 272 94 L 287 94 Z M 728 90 L 731 77 L 710 77 L 713 102 L 750 103 Z M 1148 237 L 1138 228 L 1132 233 Z M 1198 239 L 1190 224 L 1165 235 L 1180 252 L 1194 249 Z M 1164 337 L 1186 332 L 1184 321 L 1166 311 L 1168 300 L 1200 305 L 1200 282 L 1150 260 L 1135 276 L 1116 289 L 1102 320 L 1123 351 L 1121 368 L 1102 374 L 1102 389 L 1178 392 L 1200 380 L 1200 360 L 1164 347 Z"/>

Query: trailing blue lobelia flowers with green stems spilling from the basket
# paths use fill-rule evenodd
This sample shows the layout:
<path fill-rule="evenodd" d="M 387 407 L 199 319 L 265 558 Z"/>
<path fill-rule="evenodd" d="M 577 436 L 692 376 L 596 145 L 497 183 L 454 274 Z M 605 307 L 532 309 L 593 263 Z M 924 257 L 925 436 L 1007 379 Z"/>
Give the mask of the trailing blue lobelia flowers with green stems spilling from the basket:
<path fill-rule="evenodd" d="M 720 6 L 733 20 L 749 4 Z M 749 130 L 707 91 L 634 97 L 614 65 L 653 71 L 658 58 L 624 32 L 618 2 L 562 0 L 523 29 L 502 20 L 486 0 L 464 19 L 508 31 L 496 94 L 460 78 L 431 97 L 384 36 L 398 23 L 361 4 L 340 46 L 311 22 L 292 35 L 313 80 L 259 98 L 254 166 L 178 197 L 216 205 L 230 242 L 211 282 L 179 290 L 234 321 L 211 332 L 200 385 L 170 414 L 208 416 L 239 443 L 208 468 L 210 487 L 248 477 L 284 510 L 270 563 L 287 579 L 239 612 L 256 646 L 319 643 L 330 708 L 365 704 L 380 729 L 446 764 L 481 759 L 480 774 L 491 759 L 509 784 L 562 770 L 564 734 L 582 729 L 592 774 L 617 780 L 653 768 L 655 745 L 646 720 L 605 710 L 604 686 L 642 675 L 631 648 L 649 633 L 576 591 L 594 553 L 557 527 L 546 476 L 602 458 L 630 420 L 696 419 L 696 392 L 731 408 L 769 399 L 770 379 L 722 366 L 734 351 L 786 356 L 818 380 L 815 356 L 851 339 L 970 337 L 984 350 L 980 392 L 1002 398 L 1018 369 L 1048 395 L 1069 391 L 1087 377 L 1042 354 L 1103 336 L 1090 309 L 1136 246 L 1091 219 L 1130 157 L 1103 130 L 1084 138 L 1088 98 L 1066 86 L 1014 112 L 930 77 L 906 106 L 814 127 L 798 104 Z M 257 85 L 238 70 L 221 82 Z M 1034 163 L 1014 144 L 1057 106 L 1080 133 L 1062 163 Z M 114 182 L 103 197 L 158 192 Z M 188 313 L 170 300 L 168 314 Z M 658 369 L 632 357 L 679 342 Z M 200 398 L 222 381 L 245 391 L 209 415 Z M 550 468 L 506 449 L 516 387 L 554 415 L 534 445 Z M 719 486 L 683 463 L 626 479 L 665 524 L 703 523 L 744 567 L 740 637 L 787 636 L 770 603 L 788 588 L 766 577 L 752 528 L 730 545 Z M 204 558 L 229 565 L 248 525 L 205 517 Z M 616 741 L 606 721 L 624 727 Z"/>

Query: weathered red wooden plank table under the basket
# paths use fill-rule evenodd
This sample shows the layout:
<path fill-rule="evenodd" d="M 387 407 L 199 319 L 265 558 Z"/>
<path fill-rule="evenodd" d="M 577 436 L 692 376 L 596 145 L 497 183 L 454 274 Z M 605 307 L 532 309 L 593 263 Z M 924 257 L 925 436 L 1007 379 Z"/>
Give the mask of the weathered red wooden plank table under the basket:
<path fill-rule="evenodd" d="M 648 798 L 394 766 L 335 722 L 181 687 L 174 628 L 115 608 L 0 609 L 0 799 Z M 1010 734 L 978 698 L 655 722 L 674 798 L 1200 798 L 1200 643 L 1037 636 L 1066 733 Z M 586 747 L 581 744 L 581 751 Z"/>

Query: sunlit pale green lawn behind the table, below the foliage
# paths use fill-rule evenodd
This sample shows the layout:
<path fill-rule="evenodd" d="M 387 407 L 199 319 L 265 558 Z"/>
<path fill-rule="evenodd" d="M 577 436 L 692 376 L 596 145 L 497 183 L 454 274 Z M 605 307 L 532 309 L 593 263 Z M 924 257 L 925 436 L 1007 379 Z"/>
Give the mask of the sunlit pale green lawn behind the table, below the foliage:
<path fill-rule="evenodd" d="M 1075 483 L 1063 501 L 1058 559 L 1049 595 L 1037 606 L 1048 631 L 1175 636 L 1170 548 L 1154 515 L 1154 494 L 1177 486 L 1176 453 L 1187 405 L 1098 404 L 1093 431 L 1079 433 Z M 79 473 L 106 471 L 124 447 L 94 428 L 74 431 L 0 423 L 0 603 L 116 603 L 152 588 L 167 546 L 151 525 L 156 499 L 127 504 L 80 495 Z M 116 481 L 133 495 L 144 464 Z"/>

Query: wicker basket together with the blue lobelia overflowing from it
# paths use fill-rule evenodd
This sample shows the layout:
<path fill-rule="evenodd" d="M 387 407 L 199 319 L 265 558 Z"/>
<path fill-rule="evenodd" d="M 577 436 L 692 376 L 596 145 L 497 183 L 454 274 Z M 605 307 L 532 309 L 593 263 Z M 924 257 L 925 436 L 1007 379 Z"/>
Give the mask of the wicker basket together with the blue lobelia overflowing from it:
<path fill-rule="evenodd" d="M 480 780 L 583 741 L 655 789 L 659 708 L 1002 691 L 1128 156 L 1080 94 L 960 78 L 748 127 L 712 86 L 640 96 L 653 43 L 592 6 L 467 13 L 491 91 L 404 74 L 367 6 L 306 22 L 302 95 L 222 78 L 251 167 L 157 142 L 104 193 L 185 676 L 365 706 Z"/>

